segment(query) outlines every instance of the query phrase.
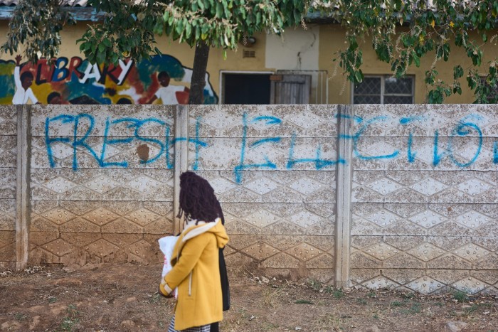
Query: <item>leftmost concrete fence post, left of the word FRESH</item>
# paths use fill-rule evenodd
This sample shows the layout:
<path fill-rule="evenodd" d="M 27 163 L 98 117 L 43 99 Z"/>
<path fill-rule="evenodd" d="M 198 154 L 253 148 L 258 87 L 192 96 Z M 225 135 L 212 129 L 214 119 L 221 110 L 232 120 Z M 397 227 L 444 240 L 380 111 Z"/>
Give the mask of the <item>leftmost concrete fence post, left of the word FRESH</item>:
<path fill-rule="evenodd" d="M 17 105 L 16 269 L 28 264 L 31 106 Z"/>

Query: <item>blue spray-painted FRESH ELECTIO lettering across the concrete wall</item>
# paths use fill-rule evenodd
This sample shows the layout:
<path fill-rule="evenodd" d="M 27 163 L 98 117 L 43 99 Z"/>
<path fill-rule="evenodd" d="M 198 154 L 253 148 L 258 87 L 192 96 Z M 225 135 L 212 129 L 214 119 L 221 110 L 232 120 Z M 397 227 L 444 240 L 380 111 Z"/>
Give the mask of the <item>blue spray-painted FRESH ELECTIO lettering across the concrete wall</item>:
<path fill-rule="evenodd" d="M 354 134 L 345 135 L 339 134 L 337 136 L 337 140 L 346 140 L 351 139 L 354 151 L 354 157 L 361 160 L 386 160 L 386 159 L 394 159 L 400 154 L 400 150 L 396 149 L 391 154 L 383 154 L 383 155 L 364 155 L 359 151 L 359 141 L 364 138 L 365 132 L 369 129 L 370 126 L 375 125 L 378 122 L 383 122 L 387 119 L 385 116 L 376 116 L 371 119 L 362 119 L 361 117 L 351 117 L 345 114 L 336 114 L 338 118 L 347 118 L 353 119 L 356 124 L 359 124 L 359 129 L 356 130 Z M 467 117 L 463 117 L 460 119 L 453 128 L 451 134 L 447 137 L 447 143 L 445 146 L 440 144 L 440 132 L 438 129 L 435 129 L 434 139 L 433 139 L 433 166 L 438 166 L 443 159 L 449 159 L 452 164 L 460 168 L 465 168 L 474 164 L 479 158 L 482 145 L 483 145 L 483 136 L 482 130 L 477 124 L 481 121 L 482 118 L 471 114 Z M 415 117 L 403 117 L 399 120 L 399 124 L 402 126 L 412 124 L 414 122 L 423 121 L 423 117 L 415 116 Z M 59 124 L 72 126 L 72 134 L 69 136 L 60 136 L 60 135 L 51 135 L 51 126 Z M 129 136 L 118 138 L 112 137 L 110 134 L 112 128 L 117 125 L 122 124 L 127 129 L 131 130 Z M 242 116 L 242 142 L 240 146 L 240 161 L 237 166 L 234 168 L 235 173 L 235 181 L 240 183 L 243 177 L 243 171 L 248 170 L 258 170 L 258 169 L 266 169 L 272 170 L 277 169 L 277 164 L 270 159 L 270 156 L 263 155 L 263 161 L 260 163 L 250 164 L 246 161 L 246 153 L 248 149 L 259 149 L 261 146 L 265 146 L 267 144 L 281 144 L 283 139 L 281 136 L 267 136 L 264 138 L 256 139 L 252 143 L 248 142 L 248 128 L 250 124 L 263 124 L 268 128 L 272 126 L 277 126 L 282 124 L 282 119 L 273 116 L 260 116 L 255 117 L 253 119 L 248 119 L 248 114 L 243 113 Z M 160 127 L 164 127 L 164 139 L 157 137 L 149 137 L 143 134 L 143 131 L 148 125 L 157 125 Z M 73 169 L 78 169 L 78 151 L 84 150 L 87 151 L 90 156 L 92 156 L 97 164 L 102 167 L 120 167 L 127 168 L 129 166 L 129 162 L 126 160 L 122 161 L 106 161 L 106 154 L 108 153 L 109 146 L 116 146 L 120 144 L 131 144 L 134 141 L 144 142 L 147 144 L 152 144 L 159 148 L 159 151 L 155 156 L 147 160 L 140 160 L 141 164 L 152 164 L 157 162 L 158 160 L 163 160 L 167 169 L 174 168 L 174 161 L 171 157 L 171 146 L 174 146 L 176 142 L 179 141 L 187 141 L 188 144 L 194 144 L 194 161 L 192 164 L 192 169 L 194 171 L 201 168 L 201 152 L 202 148 L 206 148 L 208 144 L 206 141 L 201 140 L 201 117 L 196 119 L 196 134 L 195 137 L 176 137 L 171 138 L 171 129 L 169 125 L 161 119 L 156 118 L 147 118 L 147 119 L 137 119 L 134 117 L 124 117 L 118 119 L 112 119 L 107 117 L 105 120 L 104 134 L 103 134 L 103 143 L 101 151 L 95 151 L 92 146 L 89 144 L 89 137 L 95 129 L 95 118 L 90 114 L 61 114 L 56 117 L 47 117 L 45 122 L 45 143 L 46 143 L 46 151 L 48 156 L 48 163 L 51 168 L 56 166 L 55 157 L 53 154 L 53 146 L 58 143 L 68 144 L 73 149 Z M 473 136 L 472 136 L 473 134 Z M 475 153 L 472 155 L 472 158 L 468 161 L 461 161 L 457 159 L 457 145 L 455 144 L 456 139 L 461 138 L 471 138 L 475 137 L 477 140 L 477 147 L 475 149 Z M 336 160 L 325 159 L 323 154 L 322 144 L 318 144 L 314 151 L 310 151 L 310 156 L 308 158 L 297 158 L 295 156 L 295 146 L 296 146 L 297 134 L 293 133 L 290 137 L 290 143 L 288 146 L 288 156 L 287 161 L 281 167 L 285 167 L 287 170 L 292 170 L 298 164 L 312 164 L 315 169 L 320 170 L 322 168 L 327 168 L 330 166 L 335 166 L 337 164 L 346 164 L 346 160 L 341 158 L 341 156 L 337 156 Z M 410 131 L 408 135 L 408 147 L 406 158 L 409 163 L 414 163 L 415 158 L 417 156 L 417 151 L 413 146 L 413 130 Z M 493 164 L 498 164 L 498 141 L 493 142 L 492 146 L 493 151 Z M 164 159 L 162 159 L 164 156 Z"/>

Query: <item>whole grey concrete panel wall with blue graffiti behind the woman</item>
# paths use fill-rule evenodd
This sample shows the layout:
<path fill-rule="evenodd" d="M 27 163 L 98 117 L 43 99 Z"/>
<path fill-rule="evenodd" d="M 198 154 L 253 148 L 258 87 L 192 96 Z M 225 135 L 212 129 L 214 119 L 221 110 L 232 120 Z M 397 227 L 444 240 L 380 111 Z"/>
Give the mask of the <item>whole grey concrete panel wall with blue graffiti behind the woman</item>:
<path fill-rule="evenodd" d="M 10 115 L 1 123 L 15 128 L 16 116 L 23 119 L 17 140 L 26 144 L 16 164 L 15 131 L 2 131 L 2 139 L 14 139 L 9 149 L 2 145 L 13 160 L 2 160 L 10 174 L 2 188 L 17 188 L 17 196 L 2 196 L 0 260 L 161 262 L 157 239 L 181 229 L 176 179 L 191 169 L 221 201 L 233 267 L 340 287 L 496 292 L 497 111 L 5 109 L 1 114 Z M 16 207 L 28 212 L 25 218 Z M 16 237 L 16 229 L 29 230 L 29 240 Z"/>

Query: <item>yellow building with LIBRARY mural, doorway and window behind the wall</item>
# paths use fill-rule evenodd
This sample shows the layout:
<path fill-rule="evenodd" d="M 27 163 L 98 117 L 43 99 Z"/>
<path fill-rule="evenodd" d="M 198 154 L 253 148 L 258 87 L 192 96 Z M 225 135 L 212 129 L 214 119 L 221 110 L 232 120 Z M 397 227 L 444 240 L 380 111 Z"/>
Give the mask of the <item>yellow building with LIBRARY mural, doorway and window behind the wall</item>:
<path fill-rule="evenodd" d="M 0 31 L 6 36 L 8 18 L 17 0 L 0 0 Z M 182 104 L 188 100 L 188 87 L 194 62 L 194 50 L 188 45 L 159 38 L 158 48 L 164 54 L 151 62 L 124 60 L 114 66 L 90 65 L 75 41 L 83 35 L 97 14 L 86 6 L 86 0 L 68 0 L 78 23 L 62 32 L 63 45 L 55 65 L 41 60 L 37 65 L 22 65 L 21 75 L 33 75 L 34 100 L 28 103 L 116 104 L 150 102 L 160 95 L 159 74 L 168 73 L 169 87 L 154 103 Z M 289 28 L 282 36 L 259 33 L 236 52 L 211 50 L 208 61 L 206 104 L 349 104 L 349 103 L 424 103 L 427 87 L 425 70 L 434 58 L 422 58 L 420 68 L 412 66 L 403 79 L 392 77 L 390 65 L 377 60 L 369 41 L 364 51 L 365 80 L 354 87 L 333 62 L 337 50 L 345 48 L 344 28 L 334 23 L 310 23 Z M 460 54 L 461 53 L 461 54 Z M 483 64 L 498 53 L 497 45 L 486 45 Z M 460 61 L 464 59 L 464 63 Z M 454 48 L 448 62 L 440 60 L 437 70 L 445 82 L 452 82 L 453 66 L 471 65 L 463 50 Z M 16 91 L 14 57 L 1 55 L 0 103 L 10 104 Z M 483 65 L 482 68 L 485 68 Z M 483 69 L 484 70 L 484 69 Z M 461 79 L 462 95 L 448 97 L 447 103 L 473 102 L 465 77 Z M 164 90 L 164 89 L 163 89 Z"/>

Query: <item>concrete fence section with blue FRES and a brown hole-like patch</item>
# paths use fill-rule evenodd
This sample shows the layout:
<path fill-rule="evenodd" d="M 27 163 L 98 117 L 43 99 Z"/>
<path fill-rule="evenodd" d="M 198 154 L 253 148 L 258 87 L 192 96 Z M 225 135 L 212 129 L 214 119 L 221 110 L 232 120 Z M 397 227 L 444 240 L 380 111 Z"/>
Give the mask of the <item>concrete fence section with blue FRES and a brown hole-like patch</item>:
<path fill-rule="evenodd" d="M 36 106 L 31 119 L 29 261 L 160 262 L 174 107 Z"/>

